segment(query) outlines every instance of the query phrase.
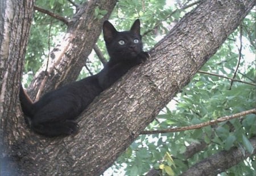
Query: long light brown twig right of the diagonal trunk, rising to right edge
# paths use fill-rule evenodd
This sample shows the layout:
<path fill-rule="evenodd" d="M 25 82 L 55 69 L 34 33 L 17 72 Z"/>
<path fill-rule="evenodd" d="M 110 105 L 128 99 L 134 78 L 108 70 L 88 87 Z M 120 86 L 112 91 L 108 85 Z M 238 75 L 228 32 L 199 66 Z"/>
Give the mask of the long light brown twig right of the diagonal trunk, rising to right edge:
<path fill-rule="evenodd" d="M 168 133 L 168 132 L 177 132 L 177 131 L 186 131 L 186 130 L 194 130 L 197 128 L 202 128 L 209 125 L 215 125 L 220 122 L 229 121 L 233 118 L 238 118 L 247 114 L 256 114 L 256 108 L 242 111 L 241 113 L 233 114 L 233 115 L 226 115 L 225 117 L 218 118 L 216 120 L 199 123 L 197 125 L 185 126 L 185 127 L 176 127 L 176 128 L 168 128 L 164 130 L 152 130 L 152 131 L 142 131 L 141 134 L 159 134 L 159 133 Z"/>

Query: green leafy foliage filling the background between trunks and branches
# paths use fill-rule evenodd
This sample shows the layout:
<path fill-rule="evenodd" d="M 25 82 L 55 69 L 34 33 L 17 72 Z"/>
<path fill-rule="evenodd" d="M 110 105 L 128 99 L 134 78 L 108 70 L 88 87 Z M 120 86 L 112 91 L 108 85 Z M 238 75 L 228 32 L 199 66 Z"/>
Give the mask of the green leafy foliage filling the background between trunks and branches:
<path fill-rule="evenodd" d="M 81 1 L 73 1 L 77 4 Z M 129 29 L 134 19 L 141 19 L 143 41 L 146 49 L 152 48 L 157 41 L 170 31 L 185 12 L 193 7 L 181 9 L 192 2 L 179 1 L 128 1 L 117 3 L 111 22 L 118 30 Z M 194 1 L 193 1 L 194 2 Z M 36 1 L 36 5 L 67 19 L 75 14 L 75 7 L 68 1 L 47 0 Z M 103 13 L 103 14 L 102 14 Z M 96 18 L 101 18 L 105 11 L 95 11 Z M 172 14 L 170 16 L 170 14 Z M 255 83 L 255 10 L 243 20 L 241 62 L 235 79 Z M 66 31 L 63 22 L 35 12 L 32 23 L 30 41 L 28 43 L 25 72 L 29 82 L 49 51 L 61 41 Z M 149 32 L 148 32 L 149 31 Z M 102 36 L 97 46 L 105 58 L 108 54 Z M 240 28 L 229 36 L 212 58 L 201 70 L 232 78 L 239 59 Z M 97 55 L 92 53 L 87 61 L 90 71 L 97 72 L 102 68 Z M 88 76 L 86 69 L 81 71 L 80 78 Z M 207 122 L 225 115 L 231 115 L 244 110 L 255 108 L 256 90 L 253 85 L 207 74 L 196 74 L 193 80 L 164 108 L 156 120 L 146 130 L 182 127 L 196 123 Z M 252 152 L 249 139 L 256 135 L 256 116 L 246 115 L 240 119 L 222 122 L 216 126 L 208 126 L 198 130 L 181 131 L 168 134 L 141 135 L 106 173 L 113 175 L 143 175 L 150 168 L 161 169 L 163 175 L 177 175 L 190 166 L 220 151 L 228 151 L 239 147 L 243 152 Z M 185 152 L 192 143 L 204 141 L 207 147 L 204 151 L 195 153 L 187 158 Z M 172 161 L 173 160 L 173 161 Z M 105 175 L 106 175 L 105 173 Z M 254 158 L 240 162 L 220 175 L 255 175 L 256 163 Z"/>

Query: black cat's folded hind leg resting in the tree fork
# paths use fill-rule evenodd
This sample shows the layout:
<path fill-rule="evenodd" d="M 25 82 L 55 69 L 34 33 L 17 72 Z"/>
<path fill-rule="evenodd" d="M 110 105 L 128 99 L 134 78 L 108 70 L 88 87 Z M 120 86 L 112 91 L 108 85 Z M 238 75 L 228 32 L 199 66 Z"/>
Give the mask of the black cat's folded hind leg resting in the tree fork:
<path fill-rule="evenodd" d="M 31 118 L 31 128 L 45 136 L 76 134 L 79 126 L 74 119 L 79 114 L 76 104 L 67 100 L 49 102 Z"/>

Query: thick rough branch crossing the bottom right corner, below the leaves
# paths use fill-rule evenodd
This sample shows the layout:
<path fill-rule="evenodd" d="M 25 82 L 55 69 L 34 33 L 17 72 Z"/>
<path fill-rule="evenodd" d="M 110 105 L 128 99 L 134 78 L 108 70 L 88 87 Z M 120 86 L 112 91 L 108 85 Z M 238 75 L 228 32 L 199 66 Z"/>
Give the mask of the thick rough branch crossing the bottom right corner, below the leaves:
<path fill-rule="evenodd" d="M 227 168 L 237 165 L 242 160 L 245 160 L 247 157 L 256 153 L 256 137 L 250 139 L 250 143 L 254 148 L 253 153 L 249 153 L 247 151 L 243 152 L 241 148 L 233 147 L 229 151 L 222 151 L 217 154 L 213 154 L 211 157 L 198 162 L 181 174 L 181 176 L 210 176 L 222 173 L 222 171 L 225 171 Z"/>

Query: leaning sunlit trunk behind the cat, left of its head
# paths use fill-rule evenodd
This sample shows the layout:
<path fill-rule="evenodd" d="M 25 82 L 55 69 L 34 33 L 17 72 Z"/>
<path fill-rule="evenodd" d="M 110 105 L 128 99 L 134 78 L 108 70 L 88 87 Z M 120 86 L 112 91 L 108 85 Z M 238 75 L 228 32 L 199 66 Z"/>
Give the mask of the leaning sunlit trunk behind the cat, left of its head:
<path fill-rule="evenodd" d="M 48 66 L 47 61 L 44 62 L 32 80 L 28 88 L 32 99 L 77 79 L 101 34 L 102 23 L 109 18 L 116 2 L 86 1 L 79 7 L 77 14 L 68 23 L 63 41 L 51 51 Z M 96 7 L 107 10 L 108 13 L 97 19 L 94 15 Z"/>

